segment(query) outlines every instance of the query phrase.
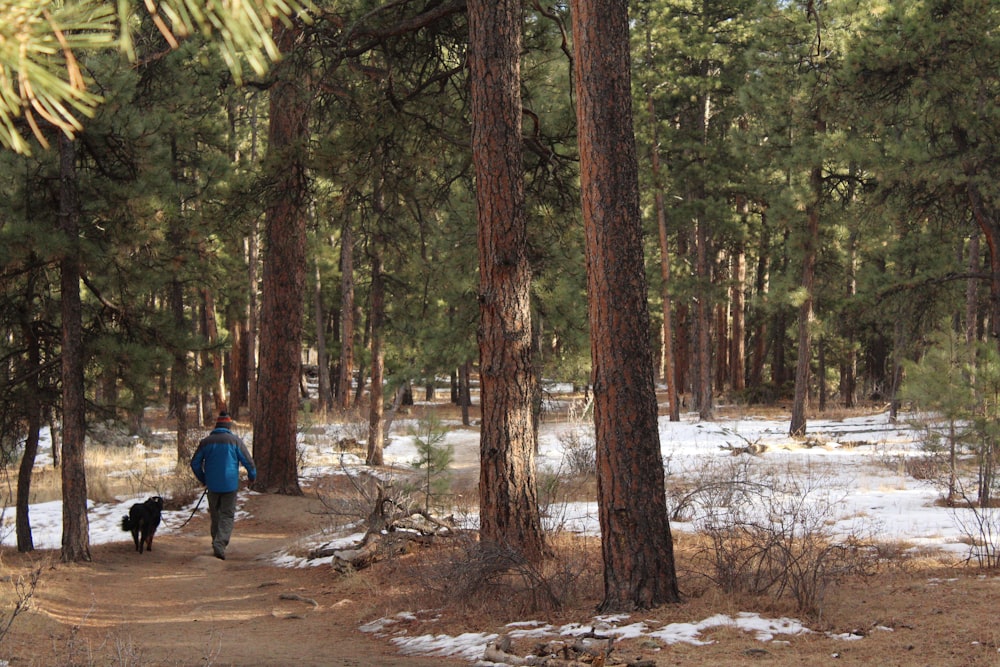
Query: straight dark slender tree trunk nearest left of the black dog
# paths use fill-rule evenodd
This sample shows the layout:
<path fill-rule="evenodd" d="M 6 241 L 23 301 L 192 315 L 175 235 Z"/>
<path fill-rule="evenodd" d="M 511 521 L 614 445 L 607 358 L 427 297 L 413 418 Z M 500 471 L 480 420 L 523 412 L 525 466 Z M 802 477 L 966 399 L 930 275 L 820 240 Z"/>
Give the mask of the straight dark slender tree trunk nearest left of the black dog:
<path fill-rule="evenodd" d="M 66 237 L 60 261 L 62 299 L 62 551 L 64 563 L 90 561 L 87 520 L 87 473 L 84 438 L 87 430 L 83 381 L 83 305 L 80 299 L 80 204 L 77 192 L 76 145 L 59 134 L 59 227 Z"/>

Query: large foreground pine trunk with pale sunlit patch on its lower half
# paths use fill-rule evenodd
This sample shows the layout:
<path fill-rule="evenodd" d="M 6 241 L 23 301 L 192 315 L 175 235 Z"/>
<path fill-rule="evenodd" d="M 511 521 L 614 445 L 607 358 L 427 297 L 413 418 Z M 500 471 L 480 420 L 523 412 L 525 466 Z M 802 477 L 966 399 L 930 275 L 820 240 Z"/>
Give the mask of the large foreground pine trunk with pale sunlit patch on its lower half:
<path fill-rule="evenodd" d="M 480 540 L 541 560 L 535 486 L 531 269 L 517 0 L 471 0 L 472 159 L 479 227 Z"/>

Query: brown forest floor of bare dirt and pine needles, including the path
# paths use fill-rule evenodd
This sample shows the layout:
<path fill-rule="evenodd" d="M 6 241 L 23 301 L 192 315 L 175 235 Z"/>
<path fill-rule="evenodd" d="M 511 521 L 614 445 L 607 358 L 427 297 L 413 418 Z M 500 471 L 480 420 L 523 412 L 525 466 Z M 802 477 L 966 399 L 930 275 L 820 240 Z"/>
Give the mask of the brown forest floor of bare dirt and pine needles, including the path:
<path fill-rule="evenodd" d="M 274 554 L 326 521 L 316 493 L 304 490 L 302 497 L 249 494 L 248 516 L 237 520 L 225 561 L 212 556 L 205 512 L 158 536 L 154 550 L 141 555 L 131 540 L 92 546 L 89 563 L 4 549 L 0 620 L 10 619 L 16 582 L 36 571 L 38 582 L 30 604 L 0 635 L 0 664 L 469 665 L 469 656 L 404 655 L 393 638 L 499 634 L 524 621 L 556 628 L 595 622 L 602 585 L 595 539 L 558 548 L 556 569 L 573 576 L 559 579 L 565 588 L 555 591 L 566 604 L 548 610 L 530 609 L 524 595 L 505 599 L 495 588 L 483 596 L 449 593 L 440 580 L 458 572 L 455 550 L 440 543 L 349 576 L 329 566 L 279 567 Z M 809 630 L 767 638 L 703 623 L 700 643 L 619 639 L 606 664 L 1000 665 L 998 572 L 897 555 L 875 574 L 841 579 L 827 591 L 821 617 L 808 618 L 790 601 L 725 594 L 695 576 L 695 539 L 675 535 L 682 601 L 633 614 L 627 623 L 657 628 L 752 612 L 794 617 Z M 386 618 L 404 620 L 384 633 L 362 630 Z M 517 639 L 510 652 L 524 656 L 537 643 Z M 587 663 L 600 664 L 573 664 Z"/>

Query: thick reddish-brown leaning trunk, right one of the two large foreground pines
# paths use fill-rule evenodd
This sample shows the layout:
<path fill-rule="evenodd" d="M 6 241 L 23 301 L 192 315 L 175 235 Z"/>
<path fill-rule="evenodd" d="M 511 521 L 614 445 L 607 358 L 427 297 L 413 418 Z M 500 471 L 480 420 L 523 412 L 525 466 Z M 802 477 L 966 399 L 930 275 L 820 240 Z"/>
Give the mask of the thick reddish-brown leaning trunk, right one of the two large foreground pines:
<path fill-rule="evenodd" d="M 680 595 L 649 343 L 628 2 L 573 0 L 571 7 L 604 561 L 600 609 L 648 609 Z"/>

